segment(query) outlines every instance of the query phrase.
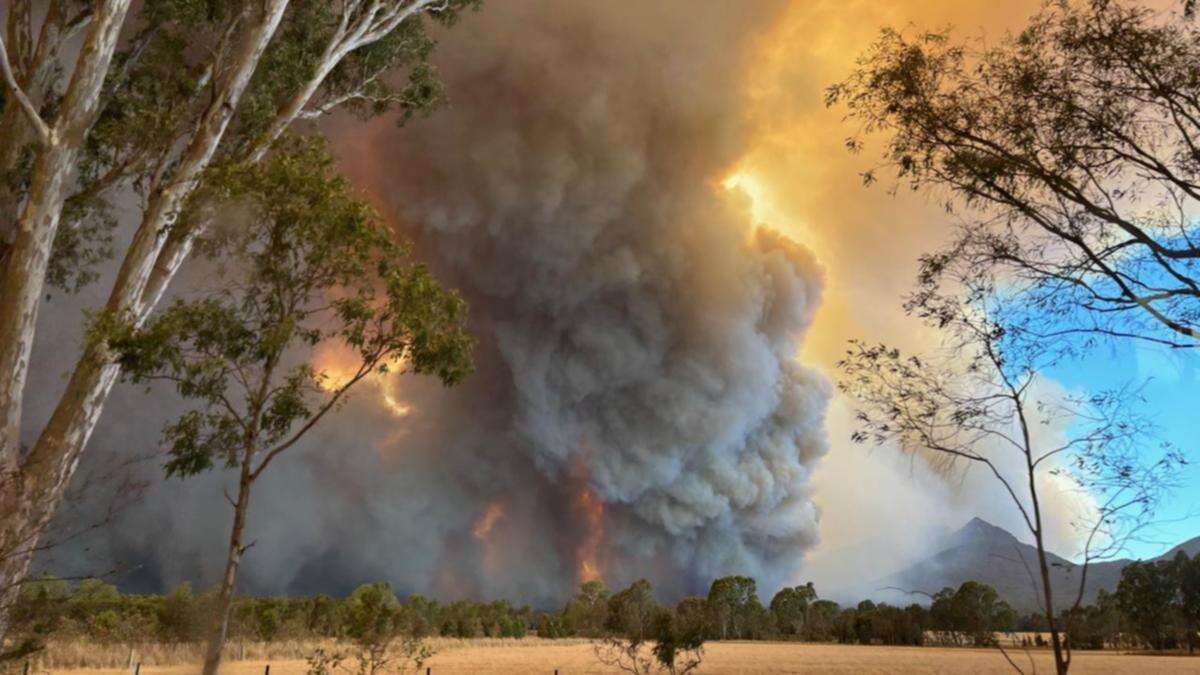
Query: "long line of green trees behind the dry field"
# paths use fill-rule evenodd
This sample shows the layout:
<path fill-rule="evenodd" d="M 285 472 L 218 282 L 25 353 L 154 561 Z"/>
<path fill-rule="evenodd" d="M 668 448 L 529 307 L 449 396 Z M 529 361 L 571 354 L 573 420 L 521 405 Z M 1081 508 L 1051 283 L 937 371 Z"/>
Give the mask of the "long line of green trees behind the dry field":
<path fill-rule="evenodd" d="M 215 592 L 182 584 L 163 595 L 121 593 L 110 584 L 71 584 L 43 578 L 23 587 L 13 608 L 18 635 L 101 644 L 199 643 Z M 1180 551 L 1164 561 L 1133 562 L 1115 591 L 1058 616 L 1072 649 L 1194 651 L 1200 629 L 1200 555 Z M 535 610 L 509 601 L 439 602 L 420 595 L 397 598 L 388 584 L 360 586 L 344 598 L 239 597 L 228 639 L 233 643 L 334 639 L 358 644 L 366 632 L 388 640 L 446 638 L 587 638 L 599 644 L 670 645 L 698 650 L 709 640 L 796 640 L 863 645 L 992 646 L 1000 633 L 1033 633 L 1018 644 L 1048 646 L 1042 613 L 1020 615 L 995 589 L 965 581 L 895 605 L 864 599 L 840 605 L 818 597 L 809 583 L 779 590 L 769 602 L 750 577 L 724 577 L 706 596 L 659 603 L 647 580 L 619 591 L 588 581 L 562 609 Z M 616 643 L 613 643 L 616 640 Z M 636 651 L 636 649 L 635 649 Z"/>

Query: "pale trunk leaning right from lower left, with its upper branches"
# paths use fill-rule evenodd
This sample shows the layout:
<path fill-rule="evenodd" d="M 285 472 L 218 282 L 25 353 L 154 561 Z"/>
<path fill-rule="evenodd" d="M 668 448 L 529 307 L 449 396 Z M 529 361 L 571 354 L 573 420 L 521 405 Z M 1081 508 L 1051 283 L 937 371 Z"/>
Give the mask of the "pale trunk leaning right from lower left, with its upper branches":
<path fill-rule="evenodd" d="M 238 50 L 228 59 L 229 65 L 214 74 L 217 86 L 214 101 L 206 108 L 170 181 L 151 195 L 106 311 L 136 323 L 145 321 L 187 258 L 198 232 L 173 232 L 172 226 L 220 147 L 241 94 L 287 4 L 287 0 L 266 0 L 253 26 L 244 31 Z M 314 76 L 278 112 L 268 132 L 254 143 L 248 159 L 254 162 L 262 160 L 271 143 L 301 117 L 325 77 L 347 54 L 386 36 L 403 20 L 430 10 L 432 5 L 433 0 L 418 0 L 412 5 L 380 0 L 372 5 L 373 10 L 365 19 L 360 17 L 359 22 L 344 22 L 326 46 Z M 0 551 L 11 542 L 28 543 L 19 546 L 25 552 L 0 560 L 0 640 L 7 626 L 8 604 L 2 602 L 5 589 L 24 578 L 32 546 L 61 502 L 119 374 L 119 366 L 103 344 L 86 345 L 49 422 L 17 470 L 19 486 L 10 489 L 0 482 L 0 496 L 8 492 L 11 501 L 19 503 L 14 509 L 18 518 L 13 522 L 20 524 L 12 528 L 11 534 L 7 528 L 0 531 Z"/>

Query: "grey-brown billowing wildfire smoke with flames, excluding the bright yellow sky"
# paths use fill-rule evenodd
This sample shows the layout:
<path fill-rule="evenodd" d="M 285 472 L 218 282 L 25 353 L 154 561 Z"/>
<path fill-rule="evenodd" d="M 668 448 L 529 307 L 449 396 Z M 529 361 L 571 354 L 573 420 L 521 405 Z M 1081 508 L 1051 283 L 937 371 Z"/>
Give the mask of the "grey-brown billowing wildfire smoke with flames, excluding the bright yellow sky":
<path fill-rule="evenodd" d="M 478 372 L 368 383 L 272 466 L 244 590 L 551 603 L 596 577 L 665 597 L 792 580 L 826 450 L 829 388 L 797 362 L 821 273 L 722 186 L 779 5 L 491 2 L 438 47 L 448 108 L 335 123 L 347 169 L 468 298 Z M 95 443 L 152 446 L 146 404 L 119 392 Z M 211 583 L 226 478 L 151 489 L 68 562 Z"/>

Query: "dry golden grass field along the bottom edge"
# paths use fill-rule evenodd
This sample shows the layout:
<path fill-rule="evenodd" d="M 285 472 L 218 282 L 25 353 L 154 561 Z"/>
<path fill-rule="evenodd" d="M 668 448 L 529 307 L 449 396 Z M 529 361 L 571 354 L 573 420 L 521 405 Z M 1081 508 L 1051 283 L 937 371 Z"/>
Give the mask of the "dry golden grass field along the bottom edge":
<path fill-rule="evenodd" d="M 608 674 L 581 640 L 478 640 L 445 641 L 428 665 L 434 675 L 488 673 L 497 675 Z M 996 650 L 942 647 L 883 647 L 797 643 L 718 643 L 706 650 L 702 674 L 767 673 L 854 673 L 854 674 L 942 674 L 972 675 L 1013 673 Z M 1013 652 L 1028 668 L 1028 656 Z M 1200 657 L 1140 656 L 1115 652 L 1076 652 L 1072 673 L 1123 674 L 1200 673 Z M 1033 653 L 1038 673 L 1052 673 L 1049 652 Z M 265 661 L 248 658 L 229 663 L 228 675 L 260 675 Z M 188 675 L 197 665 L 143 665 L 142 675 Z M 55 675 L 128 675 L 128 669 L 43 670 Z M 305 675 L 304 661 L 271 661 L 271 675 Z"/>

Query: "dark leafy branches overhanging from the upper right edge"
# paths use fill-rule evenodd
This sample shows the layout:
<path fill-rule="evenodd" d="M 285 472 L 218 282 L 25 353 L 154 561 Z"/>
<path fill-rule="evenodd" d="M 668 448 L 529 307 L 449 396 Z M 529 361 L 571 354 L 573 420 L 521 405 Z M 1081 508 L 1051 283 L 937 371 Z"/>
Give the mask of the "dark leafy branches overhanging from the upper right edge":
<path fill-rule="evenodd" d="M 1194 4 L 1188 2 L 1189 8 Z M 991 276 L 1045 338 L 1200 347 L 1200 25 L 1052 0 L 990 47 L 892 29 L 829 88 L 883 169 L 962 216 L 936 287 Z"/>

